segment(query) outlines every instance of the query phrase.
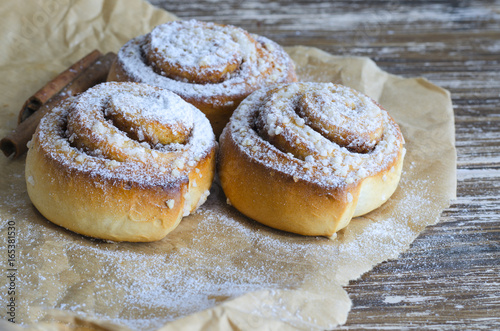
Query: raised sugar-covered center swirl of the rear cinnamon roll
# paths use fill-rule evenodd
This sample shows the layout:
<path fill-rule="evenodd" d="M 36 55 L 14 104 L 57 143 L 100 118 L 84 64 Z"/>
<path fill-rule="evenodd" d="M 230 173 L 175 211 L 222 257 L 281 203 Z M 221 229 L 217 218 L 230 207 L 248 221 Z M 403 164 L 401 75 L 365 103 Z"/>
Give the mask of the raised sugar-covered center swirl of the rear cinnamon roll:
<path fill-rule="evenodd" d="M 239 70 L 243 61 L 255 61 L 253 42 L 239 28 L 188 21 L 156 27 L 143 47 L 149 64 L 160 74 L 217 83 Z"/>

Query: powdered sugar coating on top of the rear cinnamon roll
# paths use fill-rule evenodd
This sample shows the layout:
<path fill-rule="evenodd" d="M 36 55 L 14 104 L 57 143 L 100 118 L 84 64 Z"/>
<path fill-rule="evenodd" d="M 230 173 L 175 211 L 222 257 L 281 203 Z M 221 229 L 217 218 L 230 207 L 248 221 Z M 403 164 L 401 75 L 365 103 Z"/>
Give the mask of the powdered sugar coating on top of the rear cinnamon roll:
<path fill-rule="evenodd" d="M 208 32 L 204 31 L 203 26 L 208 27 Z M 163 34 L 171 30 L 176 31 L 175 36 Z M 218 39 L 213 39 L 212 34 Z M 150 40 L 153 45 L 149 44 Z M 222 43 L 225 40 L 228 41 L 227 45 Z M 214 47 L 216 50 L 212 53 Z M 184 65 L 187 68 L 197 66 L 197 70 L 205 66 L 213 68 L 227 58 L 236 59 L 237 65 L 234 70 L 223 72 L 224 77 L 220 82 L 188 82 L 186 79 L 171 78 L 168 72 L 155 72 L 155 68 L 148 65 L 145 58 L 145 54 L 151 49 L 158 49 L 161 58 L 175 61 L 181 68 Z M 195 54 L 196 50 L 201 53 Z M 177 55 L 181 53 L 183 56 L 179 58 Z M 188 53 L 189 56 L 184 56 Z M 151 35 L 132 39 L 120 49 L 117 61 L 134 81 L 166 88 L 191 100 L 223 103 L 217 106 L 232 105 L 235 98 L 247 95 L 261 86 L 285 82 L 293 68 L 288 54 L 265 37 L 250 35 L 233 26 L 223 27 L 197 21 L 169 22 L 155 28 Z M 220 97 L 225 101 L 216 100 Z"/>

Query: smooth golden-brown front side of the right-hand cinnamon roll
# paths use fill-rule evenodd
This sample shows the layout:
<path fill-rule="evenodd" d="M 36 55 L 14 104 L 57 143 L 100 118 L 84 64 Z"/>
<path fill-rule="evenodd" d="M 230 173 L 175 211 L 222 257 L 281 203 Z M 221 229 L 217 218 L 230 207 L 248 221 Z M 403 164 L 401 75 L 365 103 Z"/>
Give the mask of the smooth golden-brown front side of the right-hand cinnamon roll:
<path fill-rule="evenodd" d="M 218 161 L 230 204 L 272 228 L 330 236 L 347 225 L 354 213 L 356 201 L 348 202 L 342 189 L 325 189 L 255 162 L 241 152 L 229 131 L 221 137 Z M 352 187 L 351 192 L 358 189 Z"/>

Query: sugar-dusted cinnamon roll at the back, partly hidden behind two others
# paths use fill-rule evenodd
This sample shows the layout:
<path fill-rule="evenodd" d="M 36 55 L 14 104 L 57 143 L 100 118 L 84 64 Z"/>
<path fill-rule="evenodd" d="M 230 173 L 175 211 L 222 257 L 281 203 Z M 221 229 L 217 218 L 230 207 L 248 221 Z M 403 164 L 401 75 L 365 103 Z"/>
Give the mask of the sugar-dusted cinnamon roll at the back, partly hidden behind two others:
<path fill-rule="evenodd" d="M 218 136 L 253 91 L 296 81 L 294 64 L 273 41 L 231 26 L 174 21 L 127 42 L 108 81 L 168 89 L 200 109 Z"/>

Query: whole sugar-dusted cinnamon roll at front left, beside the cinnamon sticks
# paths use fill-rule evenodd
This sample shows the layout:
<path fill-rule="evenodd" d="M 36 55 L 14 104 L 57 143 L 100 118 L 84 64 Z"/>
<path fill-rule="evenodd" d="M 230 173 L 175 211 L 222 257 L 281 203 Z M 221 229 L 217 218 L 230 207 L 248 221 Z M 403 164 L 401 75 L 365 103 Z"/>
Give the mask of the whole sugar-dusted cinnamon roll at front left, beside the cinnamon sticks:
<path fill-rule="evenodd" d="M 217 143 L 174 93 L 103 83 L 56 106 L 26 159 L 28 194 L 48 220 L 113 241 L 155 241 L 209 194 Z"/>

